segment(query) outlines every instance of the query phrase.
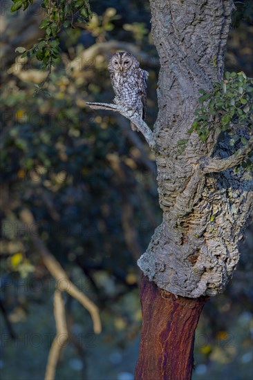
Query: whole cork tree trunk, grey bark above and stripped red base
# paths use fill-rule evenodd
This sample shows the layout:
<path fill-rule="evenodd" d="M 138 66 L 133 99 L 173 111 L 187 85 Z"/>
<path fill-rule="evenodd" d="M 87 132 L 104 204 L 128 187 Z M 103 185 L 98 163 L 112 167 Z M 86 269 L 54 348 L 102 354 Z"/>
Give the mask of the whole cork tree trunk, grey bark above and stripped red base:
<path fill-rule="evenodd" d="M 238 263 L 238 241 L 252 218 L 253 178 L 232 169 L 232 149 L 225 139 L 217 143 L 214 117 L 207 142 L 187 133 L 198 90 L 209 91 L 223 79 L 233 2 L 150 3 L 160 57 L 154 139 L 163 220 L 138 260 L 147 277 L 135 378 L 185 380 L 191 378 L 194 331 L 206 297 L 223 292 Z M 187 147 L 179 153 L 182 139 Z M 220 169 L 209 165 L 204 171 L 200 163 L 213 157 Z"/>

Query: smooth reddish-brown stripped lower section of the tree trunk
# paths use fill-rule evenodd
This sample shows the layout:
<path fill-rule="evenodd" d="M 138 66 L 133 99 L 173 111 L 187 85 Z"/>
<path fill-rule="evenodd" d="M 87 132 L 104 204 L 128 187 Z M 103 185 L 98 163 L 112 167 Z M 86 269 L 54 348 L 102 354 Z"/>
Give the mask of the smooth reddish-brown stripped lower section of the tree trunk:
<path fill-rule="evenodd" d="M 177 297 L 142 276 L 140 300 L 142 334 L 135 380 L 191 379 L 195 329 L 208 297 Z"/>

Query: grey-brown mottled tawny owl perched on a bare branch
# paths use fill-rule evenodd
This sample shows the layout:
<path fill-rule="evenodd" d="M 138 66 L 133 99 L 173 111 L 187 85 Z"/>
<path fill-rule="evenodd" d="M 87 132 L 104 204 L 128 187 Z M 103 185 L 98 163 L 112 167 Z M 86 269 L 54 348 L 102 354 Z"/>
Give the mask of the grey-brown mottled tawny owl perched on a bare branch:
<path fill-rule="evenodd" d="M 144 120 L 147 101 L 147 77 L 149 73 L 140 68 L 138 59 L 131 53 L 119 51 L 109 61 L 111 84 L 115 92 L 116 104 L 137 112 Z M 131 128 L 136 131 L 131 122 Z"/>

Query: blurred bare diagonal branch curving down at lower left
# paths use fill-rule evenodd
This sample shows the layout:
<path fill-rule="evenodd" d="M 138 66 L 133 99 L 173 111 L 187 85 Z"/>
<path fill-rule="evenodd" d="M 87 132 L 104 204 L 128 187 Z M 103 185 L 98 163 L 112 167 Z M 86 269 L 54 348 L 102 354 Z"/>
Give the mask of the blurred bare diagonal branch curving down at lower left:
<path fill-rule="evenodd" d="M 93 330 L 96 334 L 101 332 L 101 321 L 98 308 L 83 292 L 80 292 L 79 289 L 71 282 L 68 278 L 68 275 L 64 271 L 62 265 L 55 259 L 55 256 L 48 251 L 47 247 L 44 245 L 41 238 L 39 238 L 39 233 L 37 231 L 37 223 L 35 222 L 32 213 L 28 209 L 23 209 L 20 213 L 21 220 L 23 220 L 28 225 L 28 231 L 30 233 L 30 238 L 32 243 L 35 245 L 37 251 L 41 255 L 41 258 L 44 261 L 44 265 L 47 267 L 48 271 L 58 283 L 61 283 L 62 279 L 66 281 L 67 286 L 65 291 L 68 294 L 71 294 L 81 305 L 83 305 L 86 310 L 91 314 L 93 320 Z"/>

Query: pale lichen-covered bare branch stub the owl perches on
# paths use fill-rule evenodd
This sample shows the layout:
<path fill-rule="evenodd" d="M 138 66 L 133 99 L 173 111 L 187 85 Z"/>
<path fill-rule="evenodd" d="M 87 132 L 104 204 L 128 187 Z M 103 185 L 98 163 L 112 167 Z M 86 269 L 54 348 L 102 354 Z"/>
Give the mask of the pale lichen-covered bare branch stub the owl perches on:
<path fill-rule="evenodd" d="M 127 117 L 127 119 L 131 120 L 131 122 L 133 122 L 133 124 L 137 126 L 138 131 L 140 131 L 142 135 L 144 135 L 150 148 L 154 149 L 155 140 L 153 138 L 153 132 L 137 113 L 134 113 L 133 115 L 131 115 L 131 112 L 128 111 L 127 108 L 120 106 L 118 104 L 94 103 L 94 102 L 86 102 L 86 104 L 88 104 L 88 106 L 90 106 L 93 109 L 103 109 L 103 110 L 108 110 L 108 111 L 113 111 L 113 112 L 117 111 L 124 117 Z"/>

